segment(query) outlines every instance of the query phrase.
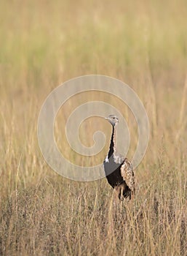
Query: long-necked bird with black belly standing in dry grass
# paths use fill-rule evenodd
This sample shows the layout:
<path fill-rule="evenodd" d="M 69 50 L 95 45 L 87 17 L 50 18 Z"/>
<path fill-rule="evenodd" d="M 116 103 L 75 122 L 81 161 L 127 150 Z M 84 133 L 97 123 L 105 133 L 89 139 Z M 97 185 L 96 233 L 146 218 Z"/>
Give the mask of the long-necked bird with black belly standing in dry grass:
<path fill-rule="evenodd" d="M 103 162 L 108 184 L 116 191 L 119 200 L 131 199 L 135 193 L 135 175 L 129 159 L 122 157 L 116 150 L 116 126 L 119 118 L 109 115 L 106 120 L 112 125 L 111 143 Z"/>

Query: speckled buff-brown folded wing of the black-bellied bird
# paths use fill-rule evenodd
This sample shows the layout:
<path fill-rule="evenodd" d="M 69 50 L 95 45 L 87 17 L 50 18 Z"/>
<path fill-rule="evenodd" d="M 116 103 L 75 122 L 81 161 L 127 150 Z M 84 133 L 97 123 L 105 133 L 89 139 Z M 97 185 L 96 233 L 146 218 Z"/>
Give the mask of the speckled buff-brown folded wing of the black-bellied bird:
<path fill-rule="evenodd" d="M 127 186 L 132 190 L 135 190 L 135 177 L 131 162 L 125 158 L 121 166 L 121 174 Z"/>

